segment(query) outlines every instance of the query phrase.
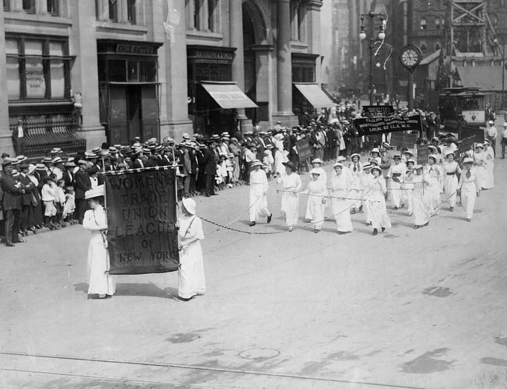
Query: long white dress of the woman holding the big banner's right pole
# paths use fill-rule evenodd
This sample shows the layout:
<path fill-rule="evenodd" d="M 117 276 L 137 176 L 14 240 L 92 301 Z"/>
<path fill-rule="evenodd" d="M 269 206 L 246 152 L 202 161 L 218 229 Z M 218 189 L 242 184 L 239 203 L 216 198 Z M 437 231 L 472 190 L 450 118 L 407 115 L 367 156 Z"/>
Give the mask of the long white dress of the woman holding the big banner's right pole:
<path fill-rule="evenodd" d="M 201 219 L 195 215 L 181 216 L 178 221 L 180 240 L 198 239 L 198 241 L 188 244 L 179 252 L 178 296 L 191 298 L 198 293 L 203 294 L 206 292 L 202 248 L 199 242 L 204 239 L 204 232 L 202 231 Z"/>

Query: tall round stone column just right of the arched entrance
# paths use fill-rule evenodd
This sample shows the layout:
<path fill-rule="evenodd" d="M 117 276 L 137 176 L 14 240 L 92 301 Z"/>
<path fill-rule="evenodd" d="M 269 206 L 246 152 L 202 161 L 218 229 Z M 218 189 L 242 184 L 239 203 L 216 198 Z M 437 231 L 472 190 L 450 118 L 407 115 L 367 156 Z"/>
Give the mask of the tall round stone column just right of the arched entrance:
<path fill-rule="evenodd" d="M 278 112 L 273 121 L 288 126 L 297 118 L 292 111 L 291 6 L 289 0 L 276 2 L 276 79 Z M 295 119 L 296 118 L 296 119 Z"/>

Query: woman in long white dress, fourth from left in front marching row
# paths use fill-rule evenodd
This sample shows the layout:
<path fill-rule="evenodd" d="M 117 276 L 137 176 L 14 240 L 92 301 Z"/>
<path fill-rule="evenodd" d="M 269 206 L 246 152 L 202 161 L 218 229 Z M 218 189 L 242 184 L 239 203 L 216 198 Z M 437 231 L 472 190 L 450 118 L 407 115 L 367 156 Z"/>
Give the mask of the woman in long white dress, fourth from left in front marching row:
<path fill-rule="evenodd" d="M 337 162 L 333 168 L 335 172 L 331 178 L 331 205 L 333 208 L 333 217 L 336 221 L 338 234 L 346 234 L 352 231 L 352 222 L 350 220 L 349 201 L 346 199 L 350 192 L 350 180 L 347 174 L 343 173 L 343 165 Z"/>

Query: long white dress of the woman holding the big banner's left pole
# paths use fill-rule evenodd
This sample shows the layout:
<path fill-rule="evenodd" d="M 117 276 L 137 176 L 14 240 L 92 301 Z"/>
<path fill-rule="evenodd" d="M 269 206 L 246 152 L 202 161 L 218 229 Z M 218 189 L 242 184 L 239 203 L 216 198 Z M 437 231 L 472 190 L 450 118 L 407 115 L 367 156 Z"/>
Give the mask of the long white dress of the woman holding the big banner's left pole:
<path fill-rule="evenodd" d="M 85 212 L 83 227 L 91 231 L 87 259 L 88 294 L 113 295 L 116 291 L 116 277 L 104 274 L 104 271 L 109 270 L 110 262 L 106 248 L 107 238 L 105 232 L 102 232 L 107 229 L 107 219 L 101 205 Z"/>

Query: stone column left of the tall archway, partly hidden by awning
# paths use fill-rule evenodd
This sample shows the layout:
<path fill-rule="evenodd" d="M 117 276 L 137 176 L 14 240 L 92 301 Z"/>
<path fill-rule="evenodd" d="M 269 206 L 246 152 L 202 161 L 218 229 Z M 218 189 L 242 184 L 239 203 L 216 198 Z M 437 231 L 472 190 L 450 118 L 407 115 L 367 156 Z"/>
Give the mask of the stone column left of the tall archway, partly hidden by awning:
<path fill-rule="evenodd" d="M 238 84 L 239 89 L 245 91 L 245 64 L 243 48 L 243 9 L 242 2 L 229 0 L 229 44 L 236 48 L 232 62 L 232 81 Z M 250 131 L 252 122 L 245 115 L 244 108 L 236 109 L 240 121 L 241 132 Z"/>

